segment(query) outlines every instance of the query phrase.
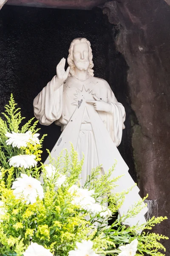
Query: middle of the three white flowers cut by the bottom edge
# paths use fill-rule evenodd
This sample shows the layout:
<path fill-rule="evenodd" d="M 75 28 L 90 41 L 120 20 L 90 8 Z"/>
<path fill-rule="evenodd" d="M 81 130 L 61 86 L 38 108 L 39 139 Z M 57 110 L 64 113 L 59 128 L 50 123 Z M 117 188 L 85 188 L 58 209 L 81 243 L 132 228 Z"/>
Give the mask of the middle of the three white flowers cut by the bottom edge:
<path fill-rule="evenodd" d="M 98 256 L 95 251 L 92 249 L 93 242 L 88 240 L 82 240 L 81 243 L 76 243 L 77 248 L 68 252 L 68 256 Z"/>

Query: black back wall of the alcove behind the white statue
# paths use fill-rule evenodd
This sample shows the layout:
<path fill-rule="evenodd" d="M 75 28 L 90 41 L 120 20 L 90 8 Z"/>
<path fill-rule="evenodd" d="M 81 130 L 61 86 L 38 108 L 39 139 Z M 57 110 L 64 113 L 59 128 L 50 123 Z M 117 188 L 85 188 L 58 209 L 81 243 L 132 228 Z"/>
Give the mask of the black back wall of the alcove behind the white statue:
<path fill-rule="evenodd" d="M 10 94 L 26 119 L 34 116 L 34 97 L 56 74 L 62 57 L 67 58 L 71 41 L 85 37 L 91 42 L 94 74 L 111 85 L 116 98 L 126 110 L 127 118 L 119 151 L 136 181 L 131 146 L 131 108 L 127 92 L 127 64 L 116 50 L 114 38 L 119 33 L 101 9 L 92 11 L 43 9 L 4 6 L 0 12 L 0 112 Z M 51 150 L 60 135 L 60 127 L 38 125 L 48 134 L 43 145 Z M 127 139 L 128 138 L 128 139 Z"/>

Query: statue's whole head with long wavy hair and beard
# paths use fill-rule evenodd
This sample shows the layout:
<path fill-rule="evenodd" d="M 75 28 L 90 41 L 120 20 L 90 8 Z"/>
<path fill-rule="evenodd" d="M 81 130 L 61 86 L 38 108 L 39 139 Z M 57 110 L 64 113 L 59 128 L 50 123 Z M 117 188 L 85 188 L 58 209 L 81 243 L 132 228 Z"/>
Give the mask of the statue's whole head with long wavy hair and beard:
<path fill-rule="evenodd" d="M 69 76 L 75 73 L 75 67 L 79 70 L 88 70 L 91 76 L 94 76 L 93 55 L 91 43 L 86 38 L 76 38 L 71 42 L 69 55 L 67 58 L 70 66 Z"/>

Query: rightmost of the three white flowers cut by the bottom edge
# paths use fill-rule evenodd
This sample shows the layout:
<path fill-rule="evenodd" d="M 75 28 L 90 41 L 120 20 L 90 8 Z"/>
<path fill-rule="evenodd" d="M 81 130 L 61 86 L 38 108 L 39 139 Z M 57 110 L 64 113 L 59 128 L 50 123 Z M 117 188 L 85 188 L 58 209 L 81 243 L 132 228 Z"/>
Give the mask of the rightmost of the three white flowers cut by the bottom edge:
<path fill-rule="evenodd" d="M 135 256 L 138 246 L 138 240 L 134 239 L 130 244 L 119 246 L 119 256 Z"/>

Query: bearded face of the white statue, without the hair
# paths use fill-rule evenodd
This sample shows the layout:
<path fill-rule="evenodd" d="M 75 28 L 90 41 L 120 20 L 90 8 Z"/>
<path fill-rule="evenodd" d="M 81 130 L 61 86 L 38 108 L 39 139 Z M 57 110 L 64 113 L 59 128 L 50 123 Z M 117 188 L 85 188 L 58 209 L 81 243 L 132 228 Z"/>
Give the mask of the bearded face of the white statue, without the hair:
<path fill-rule="evenodd" d="M 87 70 L 89 67 L 88 44 L 86 42 L 77 43 L 73 49 L 74 65 L 79 70 Z"/>

